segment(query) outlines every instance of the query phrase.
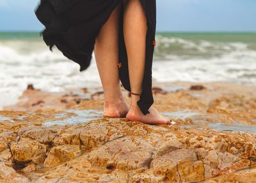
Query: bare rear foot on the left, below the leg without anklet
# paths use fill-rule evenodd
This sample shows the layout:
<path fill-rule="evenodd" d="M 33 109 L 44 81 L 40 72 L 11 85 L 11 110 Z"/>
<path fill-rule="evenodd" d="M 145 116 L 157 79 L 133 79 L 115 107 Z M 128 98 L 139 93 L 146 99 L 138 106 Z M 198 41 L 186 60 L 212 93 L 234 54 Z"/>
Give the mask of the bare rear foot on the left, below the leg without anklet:
<path fill-rule="evenodd" d="M 129 111 L 129 105 L 122 100 L 115 100 L 114 102 L 104 102 L 103 117 L 109 118 L 125 118 Z"/>

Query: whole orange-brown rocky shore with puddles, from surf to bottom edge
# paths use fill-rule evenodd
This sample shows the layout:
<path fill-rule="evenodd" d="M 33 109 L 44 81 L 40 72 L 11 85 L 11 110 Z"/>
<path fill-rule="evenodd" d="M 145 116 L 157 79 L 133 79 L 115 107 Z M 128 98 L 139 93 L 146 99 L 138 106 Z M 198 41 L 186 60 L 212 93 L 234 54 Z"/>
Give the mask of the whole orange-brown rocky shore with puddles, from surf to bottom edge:
<path fill-rule="evenodd" d="M 256 182 L 255 91 L 154 84 L 154 106 L 175 125 L 147 125 L 102 118 L 101 88 L 28 86 L 0 111 L 0 182 Z"/>

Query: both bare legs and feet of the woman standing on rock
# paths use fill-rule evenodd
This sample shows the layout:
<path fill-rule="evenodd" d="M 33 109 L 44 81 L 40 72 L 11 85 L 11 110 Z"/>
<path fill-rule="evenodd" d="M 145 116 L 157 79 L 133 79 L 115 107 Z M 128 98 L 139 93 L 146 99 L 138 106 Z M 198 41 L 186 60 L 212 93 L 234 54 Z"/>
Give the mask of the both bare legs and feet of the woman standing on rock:
<path fill-rule="evenodd" d="M 124 3 L 124 40 L 127 49 L 129 80 L 132 93 L 141 93 L 143 74 L 145 72 L 145 51 L 147 18 L 140 0 L 126 0 Z M 139 95 L 131 95 L 130 106 L 122 96 L 118 76 L 118 22 L 120 3 L 111 13 L 107 22 L 100 29 L 95 40 L 95 60 L 99 70 L 100 81 L 104 90 L 105 117 L 125 117 L 143 123 L 170 123 L 151 106 L 149 114 L 143 115 L 138 107 Z"/>

